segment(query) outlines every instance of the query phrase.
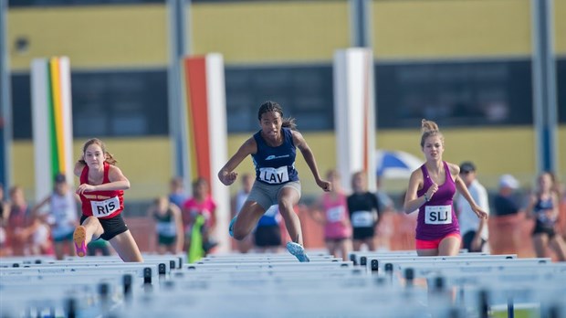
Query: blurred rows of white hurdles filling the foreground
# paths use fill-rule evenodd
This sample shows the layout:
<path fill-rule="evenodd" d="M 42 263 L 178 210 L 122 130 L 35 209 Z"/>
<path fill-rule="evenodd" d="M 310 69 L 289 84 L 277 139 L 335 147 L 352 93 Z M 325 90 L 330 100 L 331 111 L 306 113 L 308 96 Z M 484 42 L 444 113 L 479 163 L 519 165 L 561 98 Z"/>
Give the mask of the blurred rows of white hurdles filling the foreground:
<path fill-rule="evenodd" d="M 3 258 L 2 317 L 566 317 L 566 263 L 462 250 Z"/>

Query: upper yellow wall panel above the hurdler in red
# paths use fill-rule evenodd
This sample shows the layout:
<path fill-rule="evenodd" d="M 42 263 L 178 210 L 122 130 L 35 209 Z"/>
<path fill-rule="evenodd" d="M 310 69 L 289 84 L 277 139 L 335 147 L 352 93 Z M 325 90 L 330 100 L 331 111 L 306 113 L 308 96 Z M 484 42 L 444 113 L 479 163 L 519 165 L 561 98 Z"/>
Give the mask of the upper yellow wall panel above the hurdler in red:
<path fill-rule="evenodd" d="M 68 56 L 73 69 L 163 67 L 168 60 L 164 5 L 85 5 L 12 8 L 7 43 L 13 70 L 33 58 Z M 16 52 L 16 39 L 28 50 Z"/>

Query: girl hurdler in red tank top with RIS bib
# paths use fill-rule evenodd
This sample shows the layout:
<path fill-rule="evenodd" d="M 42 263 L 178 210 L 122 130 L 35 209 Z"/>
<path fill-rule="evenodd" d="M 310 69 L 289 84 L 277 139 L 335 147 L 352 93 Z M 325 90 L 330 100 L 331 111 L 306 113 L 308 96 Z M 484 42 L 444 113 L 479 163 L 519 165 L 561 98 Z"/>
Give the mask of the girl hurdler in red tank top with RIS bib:
<path fill-rule="evenodd" d="M 83 146 L 83 154 L 74 173 L 80 177 L 77 194 L 82 203 L 80 226 L 75 228 L 73 240 L 77 255 L 86 255 L 92 239 L 103 238 L 124 261 L 143 261 L 142 253 L 121 217 L 123 190 L 130 181 L 121 173 L 116 160 L 106 151 L 99 139 L 90 139 Z"/>

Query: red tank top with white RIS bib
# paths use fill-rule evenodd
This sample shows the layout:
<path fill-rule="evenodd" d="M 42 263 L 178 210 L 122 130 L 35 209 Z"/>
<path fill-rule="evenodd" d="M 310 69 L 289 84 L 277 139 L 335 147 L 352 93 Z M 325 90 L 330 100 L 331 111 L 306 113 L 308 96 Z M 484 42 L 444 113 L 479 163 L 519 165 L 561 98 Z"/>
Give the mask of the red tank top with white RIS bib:
<path fill-rule="evenodd" d="M 104 177 L 102 184 L 110 184 L 108 177 L 110 171 L 110 164 L 104 163 Z M 89 185 L 89 166 L 86 165 L 80 173 L 80 184 Z M 124 209 L 124 191 L 93 191 L 85 192 L 80 195 L 82 202 L 82 214 L 84 216 L 99 217 L 99 218 L 112 218 L 121 214 Z"/>

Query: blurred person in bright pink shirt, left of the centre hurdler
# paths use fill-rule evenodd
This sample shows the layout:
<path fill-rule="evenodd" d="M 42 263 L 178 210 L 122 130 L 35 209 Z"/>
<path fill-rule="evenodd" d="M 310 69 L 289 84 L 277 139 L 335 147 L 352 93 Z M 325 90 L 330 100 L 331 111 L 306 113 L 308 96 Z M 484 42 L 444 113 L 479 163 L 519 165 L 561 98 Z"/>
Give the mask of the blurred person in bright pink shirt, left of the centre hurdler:
<path fill-rule="evenodd" d="M 206 179 L 199 177 L 193 183 L 193 196 L 183 204 L 184 250 L 191 247 L 191 237 L 196 218 L 204 218 L 201 228 L 202 248 L 204 254 L 215 248 L 216 241 L 213 233 L 216 227 L 216 203 L 210 195 L 209 184 Z"/>

